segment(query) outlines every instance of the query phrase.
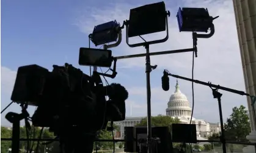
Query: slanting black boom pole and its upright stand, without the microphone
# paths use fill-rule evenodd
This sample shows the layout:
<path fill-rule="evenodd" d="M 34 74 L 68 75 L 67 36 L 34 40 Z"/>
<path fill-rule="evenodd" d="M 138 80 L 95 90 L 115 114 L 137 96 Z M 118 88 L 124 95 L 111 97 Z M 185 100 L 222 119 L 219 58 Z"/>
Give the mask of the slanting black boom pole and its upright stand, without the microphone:
<path fill-rule="evenodd" d="M 170 74 L 167 70 L 164 70 L 164 74 L 168 75 L 168 76 L 176 77 L 178 79 L 188 80 L 188 81 L 194 82 L 196 84 L 207 85 L 208 87 L 210 87 L 213 90 L 213 98 L 218 99 L 218 105 L 219 105 L 219 119 L 221 121 L 222 149 L 223 149 L 223 152 L 226 153 L 227 149 L 226 149 L 226 146 L 225 146 L 226 142 L 225 142 L 223 119 L 222 119 L 222 109 L 221 109 L 221 96 L 222 96 L 222 94 L 219 93 L 218 89 L 229 91 L 230 93 L 241 94 L 243 96 L 250 96 L 250 94 L 244 93 L 244 91 L 238 91 L 238 90 L 234 90 L 234 89 L 227 88 L 227 87 L 221 87 L 220 85 L 214 85 L 214 84 L 211 84 L 210 82 L 207 83 L 207 82 L 202 82 L 200 80 L 193 80 L 193 79 L 189 79 L 187 77 L 181 77 L 181 76 L 177 76 L 177 75 L 174 75 L 174 74 Z M 213 88 L 215 88 L 215 89 L 213 89 Z"/>

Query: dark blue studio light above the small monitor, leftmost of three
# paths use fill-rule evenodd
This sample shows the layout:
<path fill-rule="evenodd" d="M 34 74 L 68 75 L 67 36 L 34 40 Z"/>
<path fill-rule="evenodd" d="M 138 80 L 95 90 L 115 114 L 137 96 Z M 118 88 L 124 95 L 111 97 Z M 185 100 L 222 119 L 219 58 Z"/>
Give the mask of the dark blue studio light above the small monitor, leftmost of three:
<path fill-rule="evenodd" d="M 92 40 L 95 46 L 117 41 L 120 31 L 119 27 L 120 24 L 115 20 L 95 26 L 90 40 Z"/>

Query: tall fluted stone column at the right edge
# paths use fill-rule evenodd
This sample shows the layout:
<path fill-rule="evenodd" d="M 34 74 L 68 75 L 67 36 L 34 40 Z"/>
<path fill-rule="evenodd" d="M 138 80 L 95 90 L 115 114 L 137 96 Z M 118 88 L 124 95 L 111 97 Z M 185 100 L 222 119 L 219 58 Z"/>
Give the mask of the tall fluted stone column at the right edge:
<path fill-rule="evenodd" d="M 233 0 L 236 27 L 240 45 L 240 54 L 244 73 L 246 92 L 256 93 L 256 0 Z M 251 99 L 247 98 L 252 132 L 247 139 L 256 143 L 256 123 Z M 256 104 L 254 105 L 256 108 Z M 243 152 L 255 152 L 254 146 L 248 146 Z"/>

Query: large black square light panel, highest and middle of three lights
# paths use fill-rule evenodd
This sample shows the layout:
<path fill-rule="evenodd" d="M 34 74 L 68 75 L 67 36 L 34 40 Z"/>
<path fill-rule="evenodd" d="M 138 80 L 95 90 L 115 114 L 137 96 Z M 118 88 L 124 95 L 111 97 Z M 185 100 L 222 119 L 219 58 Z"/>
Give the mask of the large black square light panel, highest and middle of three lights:
<path fill-rule="evenodd" d="M 157 2 L 130 10 L 128 37 L 166 30 L 166 5 Z"/>

